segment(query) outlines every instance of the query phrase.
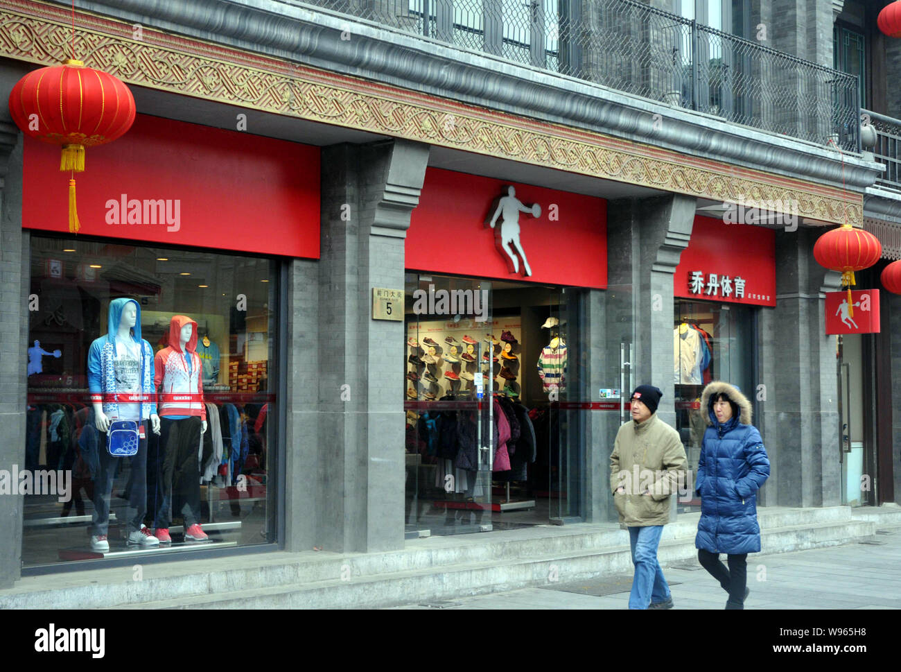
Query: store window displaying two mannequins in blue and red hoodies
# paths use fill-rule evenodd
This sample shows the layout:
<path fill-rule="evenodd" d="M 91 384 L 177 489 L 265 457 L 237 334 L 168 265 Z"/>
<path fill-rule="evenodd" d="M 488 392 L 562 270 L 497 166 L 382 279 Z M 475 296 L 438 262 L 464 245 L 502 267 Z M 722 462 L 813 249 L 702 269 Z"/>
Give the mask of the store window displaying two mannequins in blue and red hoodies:
<path fill-rule="evenodd" d="M 23 566 L 275 541 L 277 262 L 31 240 Z"/>

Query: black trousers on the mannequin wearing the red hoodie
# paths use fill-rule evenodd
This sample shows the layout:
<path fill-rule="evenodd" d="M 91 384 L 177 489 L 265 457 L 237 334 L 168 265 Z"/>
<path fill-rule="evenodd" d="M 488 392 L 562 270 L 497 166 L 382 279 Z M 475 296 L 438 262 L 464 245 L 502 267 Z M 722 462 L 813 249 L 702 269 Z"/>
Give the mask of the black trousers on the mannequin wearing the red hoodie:
<path fill-rule="evenodd" d="M 154 527 L 168 528 L 182 513 L 185 529 L 200 522 L 200 418 L 159 419 Z M 171 511 L 169 511 L 171 506 Z"/>

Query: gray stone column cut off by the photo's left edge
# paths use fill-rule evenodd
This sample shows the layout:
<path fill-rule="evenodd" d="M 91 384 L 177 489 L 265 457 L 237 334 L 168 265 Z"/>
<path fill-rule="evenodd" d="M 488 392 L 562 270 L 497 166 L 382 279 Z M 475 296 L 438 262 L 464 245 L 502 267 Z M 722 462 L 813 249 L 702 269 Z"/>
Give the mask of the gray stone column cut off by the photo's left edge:
<path fill-rule="evenodd" d="M 4 81 L 3 84 L 6 82 Z M 0 92 L 9 96 L 8 87 Z M 28 339 L 28 235 L 22 230 L 22 143 L 6 106 L 0 109 L 0 469 L 25 465 Z M 23 496 L 0 496 L 0 588 L 20 576 Z"/>

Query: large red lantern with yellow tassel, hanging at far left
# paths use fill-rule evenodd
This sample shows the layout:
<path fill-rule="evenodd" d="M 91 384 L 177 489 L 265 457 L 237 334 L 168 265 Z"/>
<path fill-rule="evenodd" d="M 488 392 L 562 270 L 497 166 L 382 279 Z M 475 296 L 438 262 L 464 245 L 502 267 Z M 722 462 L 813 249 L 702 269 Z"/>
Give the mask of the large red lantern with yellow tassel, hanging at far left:
<path fill-rule="evenodd" d="M 75 175 L 85 170 L 85 148 L 111 143 L 134 122 L 134 97 L 122 80 L 76 59 L 33 70 L 9 96 L 9 111 L 22 132 L 62 146 L 59 170 L 68 170 L 68 230 L 80 227 Z"/>

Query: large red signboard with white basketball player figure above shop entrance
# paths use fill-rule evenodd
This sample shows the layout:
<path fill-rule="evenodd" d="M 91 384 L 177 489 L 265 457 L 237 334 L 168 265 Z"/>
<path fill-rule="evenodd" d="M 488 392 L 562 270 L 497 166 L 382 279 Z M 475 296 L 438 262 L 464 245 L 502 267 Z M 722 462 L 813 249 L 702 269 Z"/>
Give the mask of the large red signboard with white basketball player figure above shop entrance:
<path fill-rule="evenodd" d="M 605 289 L 606 201 L 429 168 L 406 235 L 405 267 Z"/>

